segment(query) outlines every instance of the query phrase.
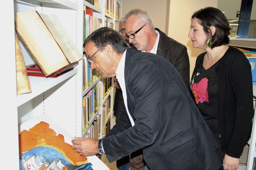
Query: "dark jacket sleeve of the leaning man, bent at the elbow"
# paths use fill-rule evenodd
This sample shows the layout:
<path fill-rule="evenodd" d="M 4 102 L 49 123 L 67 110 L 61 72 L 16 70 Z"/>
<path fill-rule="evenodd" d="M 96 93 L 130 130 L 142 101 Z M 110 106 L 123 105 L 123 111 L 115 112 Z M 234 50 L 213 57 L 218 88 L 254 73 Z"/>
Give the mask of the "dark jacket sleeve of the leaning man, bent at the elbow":
<path fill-rule="evenodd" d="M 162 119 L 161 77 L 159 68 L 152 62 L 140 61 L 131 68 L 127 80 L 130 86 L 126 88 L 134 95 L 135 125 L 103 139 L 109 162 L 145 148 L 156 140 Z"/>

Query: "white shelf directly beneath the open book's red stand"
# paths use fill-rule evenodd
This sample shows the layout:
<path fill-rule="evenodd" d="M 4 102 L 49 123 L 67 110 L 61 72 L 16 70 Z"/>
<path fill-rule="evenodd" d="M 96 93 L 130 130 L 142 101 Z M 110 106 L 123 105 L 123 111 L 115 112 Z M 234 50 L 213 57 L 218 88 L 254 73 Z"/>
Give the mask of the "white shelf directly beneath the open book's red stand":
<path fill-rule="evenodd" d="M 71 76 L 75 75 L 78 72 L 78 68 L 74 68 L 73 70 L 60 75 L 57 78 L 46 78 L 46 77 L 36 77 L 36 76 L 29 76 L 29 82 L 31 85 L 31 93 L 18 95 L 17 96 L 17 106 L 21 106 L 24 103 L 30 101 L 31 99 L 35 98 L 36 96 L 42 94 L 43 92 L 49 90 L 50 88 L 54 87 L 55 85 L 63 82 L 64 80 L 70 78 Z"/>

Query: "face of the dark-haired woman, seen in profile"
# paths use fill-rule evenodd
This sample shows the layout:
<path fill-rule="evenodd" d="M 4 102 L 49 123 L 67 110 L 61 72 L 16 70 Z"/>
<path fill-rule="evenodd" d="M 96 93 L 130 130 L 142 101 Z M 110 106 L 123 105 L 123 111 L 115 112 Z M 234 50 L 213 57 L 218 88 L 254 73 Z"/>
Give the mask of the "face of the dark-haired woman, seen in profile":
<path fill-rule="evenodd" d="M 199 24 L 197 18 L 193 18 L 191 21 L 191 31 L 189 37 L 192 40 L 194 48 L 206 48 L 207 35 L 203 31 L 203 26 Z"/>

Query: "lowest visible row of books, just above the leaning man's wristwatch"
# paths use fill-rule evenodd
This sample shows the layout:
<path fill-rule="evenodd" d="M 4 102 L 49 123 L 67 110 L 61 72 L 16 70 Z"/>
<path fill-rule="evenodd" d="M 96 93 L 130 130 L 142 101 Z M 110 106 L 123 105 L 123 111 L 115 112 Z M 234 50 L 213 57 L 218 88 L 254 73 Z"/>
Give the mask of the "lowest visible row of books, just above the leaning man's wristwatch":
<path fill-rule="evenodd" d="M 92 122 L 90 128 L 88 129 L 84 137 L 98 139 L 99 136 L 100 136 L 100 115 L 97 115 L 97 117 Z"/>

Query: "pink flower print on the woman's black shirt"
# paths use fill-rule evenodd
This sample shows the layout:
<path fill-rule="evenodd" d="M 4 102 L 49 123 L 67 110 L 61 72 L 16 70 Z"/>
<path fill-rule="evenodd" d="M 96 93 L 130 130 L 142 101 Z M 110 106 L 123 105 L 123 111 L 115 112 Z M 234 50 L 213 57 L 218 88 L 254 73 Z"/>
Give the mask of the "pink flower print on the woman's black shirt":
<path fill-rule="evenodd" d="M 198 83 L 193 83 L 191 86 L 196 104 L 209 102 L 208 101 L 208 79 L 202 78 Z"/>

